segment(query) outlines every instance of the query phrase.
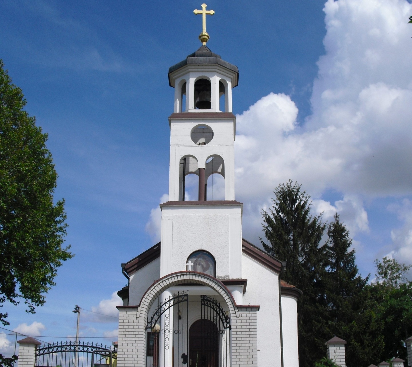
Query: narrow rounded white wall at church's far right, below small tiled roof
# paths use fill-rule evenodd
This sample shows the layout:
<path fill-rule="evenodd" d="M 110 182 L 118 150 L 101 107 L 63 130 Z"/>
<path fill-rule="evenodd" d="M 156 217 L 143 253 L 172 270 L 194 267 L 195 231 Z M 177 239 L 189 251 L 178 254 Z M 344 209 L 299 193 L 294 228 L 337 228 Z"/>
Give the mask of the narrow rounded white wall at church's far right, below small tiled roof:
<path fill-rule="evenodd" d="M 296 298 L 282 296 L 283 366 L 299 367 Z"/>

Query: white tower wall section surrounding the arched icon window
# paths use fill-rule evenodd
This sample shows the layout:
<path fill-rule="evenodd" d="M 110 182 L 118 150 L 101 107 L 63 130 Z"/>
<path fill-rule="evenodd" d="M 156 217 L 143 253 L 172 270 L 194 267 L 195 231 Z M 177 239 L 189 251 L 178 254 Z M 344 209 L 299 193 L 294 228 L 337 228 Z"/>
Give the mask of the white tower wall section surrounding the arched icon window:
<path fill-rule="evenodd" d="M 188 256 L 206 250 L 218 278 L 241 278 L 241 225 L 241 204 L 162 207 L 161 276 L 186 270 Z"/>

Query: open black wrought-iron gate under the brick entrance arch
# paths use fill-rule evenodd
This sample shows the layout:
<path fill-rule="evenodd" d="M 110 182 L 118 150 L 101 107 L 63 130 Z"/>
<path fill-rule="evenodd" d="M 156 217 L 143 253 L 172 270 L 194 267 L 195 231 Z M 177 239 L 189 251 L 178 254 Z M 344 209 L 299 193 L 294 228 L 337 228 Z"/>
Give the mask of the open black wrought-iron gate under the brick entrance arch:
<path fill-rule="evenodd" d="M 147 367 L 230 366 L 228 311 L 212 296 L 200 296 L 200 310 L 199 296 L 191 301 L 189 309 L 189 291 L 173 294 L 147 319 Z"/>

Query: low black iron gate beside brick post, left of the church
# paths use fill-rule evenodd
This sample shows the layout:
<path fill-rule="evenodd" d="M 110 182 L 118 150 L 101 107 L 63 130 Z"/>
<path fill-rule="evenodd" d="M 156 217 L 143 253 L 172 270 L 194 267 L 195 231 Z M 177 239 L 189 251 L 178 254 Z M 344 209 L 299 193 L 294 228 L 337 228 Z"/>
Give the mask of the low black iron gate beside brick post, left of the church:
<path fill-rule="evenodd" d="M 89 342 L 43 344 L 36 350 L 36 367 L 116 367 L 117 349 Z"/>

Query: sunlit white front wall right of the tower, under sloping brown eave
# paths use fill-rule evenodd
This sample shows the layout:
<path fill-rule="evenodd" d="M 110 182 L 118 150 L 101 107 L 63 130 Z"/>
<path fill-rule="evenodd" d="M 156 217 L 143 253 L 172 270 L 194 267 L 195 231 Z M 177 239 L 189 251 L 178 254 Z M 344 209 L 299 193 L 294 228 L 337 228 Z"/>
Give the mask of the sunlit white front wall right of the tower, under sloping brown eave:
<path fill-rule="evenodd" d="M 242 277 L 248 279 L 243 305 L 260 305 L 257 313 L 258 366 L 280 366 L 279 277 L 244 253 Z"/>

